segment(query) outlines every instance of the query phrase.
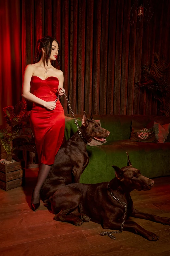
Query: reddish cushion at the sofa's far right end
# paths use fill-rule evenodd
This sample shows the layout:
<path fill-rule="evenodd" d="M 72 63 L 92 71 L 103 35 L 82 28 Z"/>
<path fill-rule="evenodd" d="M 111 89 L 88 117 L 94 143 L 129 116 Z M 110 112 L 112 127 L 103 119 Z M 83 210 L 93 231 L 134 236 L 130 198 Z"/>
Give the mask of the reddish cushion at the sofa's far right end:
<path fill-rule="evenodd" d="M 155 134 L 158 142 L 164 143 L 169 134 L 170 124 L 161 125 L 154 122 Z"/>

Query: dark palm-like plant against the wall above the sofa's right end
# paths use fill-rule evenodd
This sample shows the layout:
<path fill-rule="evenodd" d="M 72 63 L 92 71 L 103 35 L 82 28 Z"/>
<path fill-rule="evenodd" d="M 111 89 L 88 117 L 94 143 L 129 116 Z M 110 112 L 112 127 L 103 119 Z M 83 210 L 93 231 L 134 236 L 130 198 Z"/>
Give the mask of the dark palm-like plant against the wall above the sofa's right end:
<path fill-rule="evenodd" d="M 170 116 L 169 67 L 170 62 L 155 53 L 153 63 L 142 66 L 141 82 L 136 83 L 138 88 L 150 91 L 153 97 L 159 101 L 159 109 L 164 116 Z"/>

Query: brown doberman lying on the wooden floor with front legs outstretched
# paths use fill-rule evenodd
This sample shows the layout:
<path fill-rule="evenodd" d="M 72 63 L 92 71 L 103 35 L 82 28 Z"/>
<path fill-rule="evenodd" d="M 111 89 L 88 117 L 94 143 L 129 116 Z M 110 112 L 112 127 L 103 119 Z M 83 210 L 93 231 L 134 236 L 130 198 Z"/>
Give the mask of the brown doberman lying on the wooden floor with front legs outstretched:
<path fill-rule="evenodd" d="M 91 219 L 100 223 L 104 229 L 120 230 L 125 207 L 115 200 L 115 196 L 127 203 L 127 218 L 131 216 L 170 225 L 170 218 L 142 213 L 133 208 L 130 192 L 134 189 L 150 190 L 154 181 L 133 168 L 130 161 L 129 165 L 121 169 L 113 166 L 116 177 L 110 182 L 70 184 L 57 190 L 50 198 L 52 211 L 57 214 L 54 219 L 74 225 L 81 225 Z M 134 221 L 128 221 L 127 218 L 123 230 L 139 234 L 149 241 L 158 240 L 159 236 L 145 230 Z"/>

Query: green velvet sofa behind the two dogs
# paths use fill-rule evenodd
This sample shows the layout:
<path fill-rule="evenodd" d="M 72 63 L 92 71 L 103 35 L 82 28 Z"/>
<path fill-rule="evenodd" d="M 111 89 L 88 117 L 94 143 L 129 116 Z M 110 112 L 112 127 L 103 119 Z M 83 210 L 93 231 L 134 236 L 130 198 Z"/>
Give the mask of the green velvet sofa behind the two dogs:
<path fill-rule="evenodd" d="M 75 115 L 81 126 L 81 115 Z M 88 116 L 89 118 L 89 116 Z M 101 126 L 109 130 L 106 143 L 99 146 L 87 145 L 89 164 L 81 175 L 81 183 L 99 183 L 114 178 L 112 165 L 120 168 L 127 166 L 127 155 L 133 167 L 149 178 L 170 175 L 170 143 L 131 141 L 132 120 L 151 121 L 160 124 L 170 123 L 170 118 L 145 115 L 93 115 L 100 120 Z M 65 116 L 65 138 L 69 139 L 77 127 L 71 115 Z"/>

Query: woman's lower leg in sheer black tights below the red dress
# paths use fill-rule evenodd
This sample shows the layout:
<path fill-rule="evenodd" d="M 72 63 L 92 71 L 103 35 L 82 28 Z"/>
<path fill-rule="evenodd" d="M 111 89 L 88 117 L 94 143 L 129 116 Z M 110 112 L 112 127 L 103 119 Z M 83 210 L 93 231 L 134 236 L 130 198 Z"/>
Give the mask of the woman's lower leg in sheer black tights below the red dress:
<path fill-rule="evenodd" d="M 39 193 L 45 179 L 47 178 L 50 172 L 50 169 L 51 169 L 51 165 L 41 163 L 38 171 L 36 185 L 32 194 L 31 203 L 37 204 L 39 202 Z"/>

